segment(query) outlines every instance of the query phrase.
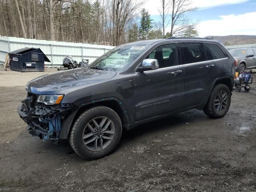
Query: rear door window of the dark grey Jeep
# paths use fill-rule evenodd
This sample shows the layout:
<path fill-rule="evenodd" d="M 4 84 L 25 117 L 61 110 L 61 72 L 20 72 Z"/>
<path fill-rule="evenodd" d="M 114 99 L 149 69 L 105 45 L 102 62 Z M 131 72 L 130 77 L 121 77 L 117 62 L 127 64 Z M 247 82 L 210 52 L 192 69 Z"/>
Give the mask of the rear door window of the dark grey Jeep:
<path fill-rule="evenodd" d="M 183 64 L 206 61 L 204 49 L 200 43 L 180 43 Z"/>

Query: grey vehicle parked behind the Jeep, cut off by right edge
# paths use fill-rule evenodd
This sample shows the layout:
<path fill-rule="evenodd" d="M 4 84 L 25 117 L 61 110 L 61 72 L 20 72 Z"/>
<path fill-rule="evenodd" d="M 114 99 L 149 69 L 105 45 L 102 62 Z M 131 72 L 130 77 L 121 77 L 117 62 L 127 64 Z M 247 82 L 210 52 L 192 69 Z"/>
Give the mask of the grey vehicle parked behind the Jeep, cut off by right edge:
<path fill-rule="evenodd" d="M 237 72 L 256 68 L 256 48 L 235 48 L 228 51 L 236 59 Z"/>

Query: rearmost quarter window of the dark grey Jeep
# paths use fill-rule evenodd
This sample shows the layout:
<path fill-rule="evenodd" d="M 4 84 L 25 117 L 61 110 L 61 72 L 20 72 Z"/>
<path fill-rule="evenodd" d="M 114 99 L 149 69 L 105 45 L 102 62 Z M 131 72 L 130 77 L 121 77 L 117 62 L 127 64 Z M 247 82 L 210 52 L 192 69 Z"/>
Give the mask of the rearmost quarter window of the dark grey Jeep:
<path fill-rule="evenodd" d="M 204 43 L 207 60 L 226 58 L 225 53 L 217 44 Z"/>

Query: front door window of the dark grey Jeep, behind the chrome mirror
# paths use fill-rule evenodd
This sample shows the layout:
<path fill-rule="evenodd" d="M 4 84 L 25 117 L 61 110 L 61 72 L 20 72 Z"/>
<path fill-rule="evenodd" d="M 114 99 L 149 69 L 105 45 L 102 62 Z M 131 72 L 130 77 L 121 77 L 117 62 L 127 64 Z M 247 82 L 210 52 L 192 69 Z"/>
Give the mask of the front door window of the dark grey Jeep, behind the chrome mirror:
<path fill-rule="evenodd" d="M 145 59 L 156 59 L 159 68 L 178 65 L 176 44 L 164 44 L 155 48 Z"/>

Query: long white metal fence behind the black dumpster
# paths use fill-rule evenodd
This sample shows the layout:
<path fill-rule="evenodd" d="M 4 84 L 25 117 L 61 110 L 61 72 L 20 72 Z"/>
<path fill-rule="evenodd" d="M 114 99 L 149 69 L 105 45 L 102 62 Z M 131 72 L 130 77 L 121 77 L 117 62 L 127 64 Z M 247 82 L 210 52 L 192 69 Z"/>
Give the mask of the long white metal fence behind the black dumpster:
<path fill-rule="evenodd" d="M 90 63 L 103 55 L 112 46 L 68 43 L 16 37 L 0 36 L 0 64 L 4 64 L 6 53 L 17 49 L 33 47 L 40 48 L 51 62 L 45 62 L 46 66 L 60 66 L 64 56 L 72 56 L 74 60 L 81 61 L 82 57 L 88 58 Z"/>

